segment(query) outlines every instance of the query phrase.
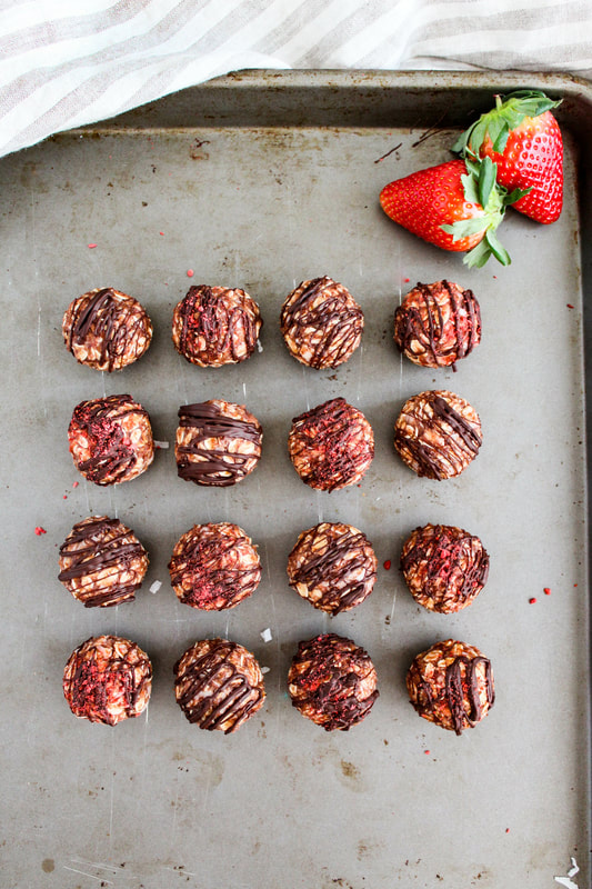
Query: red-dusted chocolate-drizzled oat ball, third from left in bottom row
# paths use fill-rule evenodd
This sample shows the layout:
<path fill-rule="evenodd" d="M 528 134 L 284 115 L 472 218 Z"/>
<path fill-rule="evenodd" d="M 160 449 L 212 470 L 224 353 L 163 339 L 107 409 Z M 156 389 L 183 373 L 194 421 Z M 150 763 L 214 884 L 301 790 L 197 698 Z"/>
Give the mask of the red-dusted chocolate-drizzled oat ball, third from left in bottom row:
<path fill-rule="evenodd" d="M 365 719 L 379 696 L 369 655 L 335 633 L 299 643 L 288 689 L 292 705 L 325 731 L 348 731 Z"/>

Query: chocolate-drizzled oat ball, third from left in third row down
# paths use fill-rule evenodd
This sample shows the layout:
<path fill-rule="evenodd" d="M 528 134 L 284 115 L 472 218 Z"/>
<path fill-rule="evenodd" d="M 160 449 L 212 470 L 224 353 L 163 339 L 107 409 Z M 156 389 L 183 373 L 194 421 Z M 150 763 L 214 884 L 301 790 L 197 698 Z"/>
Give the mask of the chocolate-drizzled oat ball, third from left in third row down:
<path fill-rule="evenodd" d="M 321 522 L 303 531 L 288 558 L 290 586 L 315 608 L 338 615 L 370 596 L 377 557 L 361 531 L 342 522 Z"/>

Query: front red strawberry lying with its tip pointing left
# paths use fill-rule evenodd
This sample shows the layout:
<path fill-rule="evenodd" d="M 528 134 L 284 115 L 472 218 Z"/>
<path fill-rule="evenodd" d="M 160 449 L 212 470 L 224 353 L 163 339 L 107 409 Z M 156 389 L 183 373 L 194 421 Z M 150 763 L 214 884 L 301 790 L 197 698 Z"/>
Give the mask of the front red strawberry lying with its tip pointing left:
<path fill-rule="evenodd" d="M 495 164 L 452 160 L 385 186 L 380 203 L 388 217 L 443 250 L 470 251 L 468 266 L 483 266 L 491 253 L 504 266 L 510 257 L 495 229 L 506 193 L 495 182 Z"/>

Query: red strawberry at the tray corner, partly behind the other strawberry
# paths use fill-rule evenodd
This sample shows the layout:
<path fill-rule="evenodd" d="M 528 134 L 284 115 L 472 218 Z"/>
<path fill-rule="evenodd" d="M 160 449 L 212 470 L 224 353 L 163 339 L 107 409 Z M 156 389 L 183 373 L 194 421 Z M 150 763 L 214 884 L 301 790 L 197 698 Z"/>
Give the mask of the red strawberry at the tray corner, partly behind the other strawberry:
<path fill-rule="evenodd" d="M 554 222 L 563 204 L 563 140 L 551 113 L 560 102 L 540 90 L 518 90 L 466 130 L 453 150 L 464 157 L 488 157 L 498 166 L 498 181 L 509 191 L 530 189 L 514 203 L 536 222 Z"/>

